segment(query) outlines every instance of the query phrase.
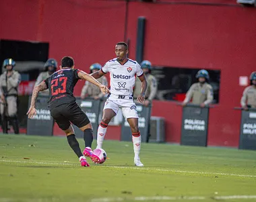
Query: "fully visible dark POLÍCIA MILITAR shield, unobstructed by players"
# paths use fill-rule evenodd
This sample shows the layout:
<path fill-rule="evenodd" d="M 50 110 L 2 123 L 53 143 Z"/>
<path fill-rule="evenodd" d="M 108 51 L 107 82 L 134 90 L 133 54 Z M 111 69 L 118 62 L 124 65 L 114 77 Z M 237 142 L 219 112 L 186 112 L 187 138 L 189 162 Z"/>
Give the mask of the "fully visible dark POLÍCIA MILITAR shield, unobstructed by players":
<path fill-rule="evenodd" d="M 209 108 L 183 107 L 181 145 L 207 146 Z"/>

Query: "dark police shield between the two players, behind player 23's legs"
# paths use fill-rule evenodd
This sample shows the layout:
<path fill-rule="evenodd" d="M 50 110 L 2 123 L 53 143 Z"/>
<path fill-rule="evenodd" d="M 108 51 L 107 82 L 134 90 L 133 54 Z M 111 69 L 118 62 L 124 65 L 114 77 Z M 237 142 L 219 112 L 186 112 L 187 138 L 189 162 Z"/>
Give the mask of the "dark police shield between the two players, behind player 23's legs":
<path fill-rule="evenodd" d="M 101 100 L 93 100 L 91 98 L 86 98 L 85 100 L 81 100 L 80 98 L 77 98 L 76 102 L 82 108 L 82 110 L 86 113 L 90 122 L 92 123 L 94 138 L 96 139 L 97 131 L 98 131 L 98 115 L 100 112 Z M 75 130 L 76 137 L 84 137 L 83 131 L 81 131 L 75 125 L 73 125 L 73 128 Z"/>

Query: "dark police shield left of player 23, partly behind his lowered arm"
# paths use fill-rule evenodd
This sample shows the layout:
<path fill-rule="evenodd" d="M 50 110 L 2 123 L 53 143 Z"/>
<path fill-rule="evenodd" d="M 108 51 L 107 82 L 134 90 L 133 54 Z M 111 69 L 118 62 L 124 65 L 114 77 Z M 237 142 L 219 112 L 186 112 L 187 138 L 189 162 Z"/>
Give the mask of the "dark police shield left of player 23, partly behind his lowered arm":
<path fill-rule="evenodd" d="M 30 104 L 31 96 L 28 103 Z M 27 135 L 53 135 L 53 117 L 47 106 L 48 96 L 38 96 L 36 100 L 36 115 L 28 119 Z"/>

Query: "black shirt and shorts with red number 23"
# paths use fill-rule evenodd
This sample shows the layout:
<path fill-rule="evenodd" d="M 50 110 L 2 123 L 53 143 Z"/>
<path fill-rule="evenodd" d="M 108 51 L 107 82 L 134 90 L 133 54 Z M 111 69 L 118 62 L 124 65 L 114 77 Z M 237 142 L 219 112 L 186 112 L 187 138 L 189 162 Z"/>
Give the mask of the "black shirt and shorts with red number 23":
<path fill-rule="evenodd" d="M 51 116 L 62 130 L 67 130 L 70 122 L 79 128 L 90 123 L 73 96 L 73 88 L 79 80 L 78 73 L 79 69 L 61 69 L 44 80 L 49 88 Z"/>

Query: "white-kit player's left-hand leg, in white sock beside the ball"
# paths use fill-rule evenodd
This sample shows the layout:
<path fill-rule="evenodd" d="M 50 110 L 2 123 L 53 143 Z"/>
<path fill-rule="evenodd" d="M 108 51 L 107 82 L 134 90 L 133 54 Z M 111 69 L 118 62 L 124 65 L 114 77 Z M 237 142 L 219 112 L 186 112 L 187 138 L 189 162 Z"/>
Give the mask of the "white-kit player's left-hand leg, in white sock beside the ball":
<path fill-rule="evenodd" d="M 102 120 L 100 122 L 100 125 L 98 126 L 98 131 L 97 131 L 97 149 L 102 148 L 102 143 L 106 135 L 106 129 L 108 127 L 108 123 L 117 114 L 118 110 L 119 110 L 118 104 L 116 104 L 114 101 L 106 100 L 105 106 L 103 109 Z"/>

